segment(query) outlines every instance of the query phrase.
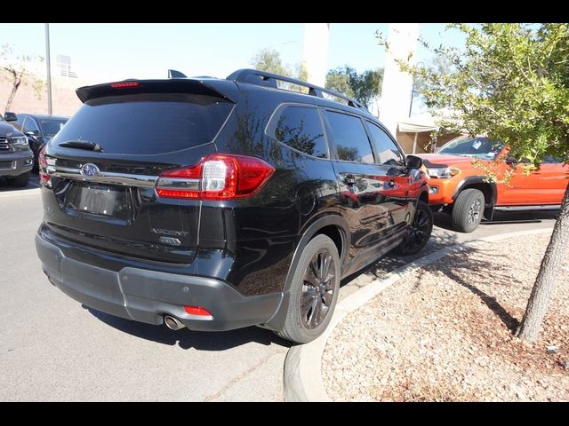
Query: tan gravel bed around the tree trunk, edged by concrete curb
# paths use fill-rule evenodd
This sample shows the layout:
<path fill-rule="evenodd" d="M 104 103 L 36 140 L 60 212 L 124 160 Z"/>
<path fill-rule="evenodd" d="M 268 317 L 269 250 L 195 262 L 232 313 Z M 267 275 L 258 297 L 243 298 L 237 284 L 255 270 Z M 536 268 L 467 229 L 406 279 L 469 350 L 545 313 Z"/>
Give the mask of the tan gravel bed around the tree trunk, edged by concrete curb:
<path fill-rule="evenodd" d="M 485 243 L 408 275 L 336 327 L 334 400 L 568 401 L 569 256 L 540 339 L 512 335 L 549 234 Z M 568 254 L 569 255 L 569 254 Z"/>

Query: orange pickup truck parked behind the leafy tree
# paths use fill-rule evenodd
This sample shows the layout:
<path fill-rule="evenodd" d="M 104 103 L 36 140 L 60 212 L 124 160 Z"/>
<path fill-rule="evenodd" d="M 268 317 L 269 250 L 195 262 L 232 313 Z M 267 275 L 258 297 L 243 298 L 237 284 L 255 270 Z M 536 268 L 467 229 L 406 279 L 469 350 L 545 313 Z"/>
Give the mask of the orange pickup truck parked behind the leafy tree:
<path fill-rule="evenodd" d="M 504 146 L 488 138 L 455 138 L 437 150 L 421 154 L 429 176 L 429 204 L 432 209 L 453 216 L 453 227 L 463 233 L 474 231 L 482 217 L 492 220 L 496 210 L 558 209 L 569 183 L 569 165 L 555 157 L 546 157 L 539 170 L 526 175 L 524 164 L 496 162 Z M 473 163 L 484 162 L 498 177 L 508 170 L 513 174 L 508 184 L 490 183 L 485 171 Z"/>

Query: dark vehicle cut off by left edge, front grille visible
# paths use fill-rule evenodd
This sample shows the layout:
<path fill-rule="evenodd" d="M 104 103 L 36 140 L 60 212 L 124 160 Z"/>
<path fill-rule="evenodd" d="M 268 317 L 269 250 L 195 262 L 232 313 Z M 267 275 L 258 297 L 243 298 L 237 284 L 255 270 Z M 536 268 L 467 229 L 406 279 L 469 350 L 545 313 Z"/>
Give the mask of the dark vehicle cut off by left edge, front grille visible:
<path fill-rule="evenodd" d="M 26 186 L 34 160 L 26 135 L 9 124 L 15 119 L 14 114 L 0 114 L 0 177 L 10 185 Z"/>

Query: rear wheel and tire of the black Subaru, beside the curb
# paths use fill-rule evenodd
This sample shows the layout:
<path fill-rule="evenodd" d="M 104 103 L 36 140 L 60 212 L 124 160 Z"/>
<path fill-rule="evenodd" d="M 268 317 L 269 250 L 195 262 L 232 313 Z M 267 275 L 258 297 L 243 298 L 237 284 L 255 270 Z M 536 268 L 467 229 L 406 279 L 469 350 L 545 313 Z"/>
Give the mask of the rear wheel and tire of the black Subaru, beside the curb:
<path fill-rule="evenodd" d="M 317 235 L 302 250 L 293 272 L 284 328 L 276 334 L 294 343 L 309 343 L 322 335 L 336 307 L 340 280 L 336 245 L 326 235 Z"/>

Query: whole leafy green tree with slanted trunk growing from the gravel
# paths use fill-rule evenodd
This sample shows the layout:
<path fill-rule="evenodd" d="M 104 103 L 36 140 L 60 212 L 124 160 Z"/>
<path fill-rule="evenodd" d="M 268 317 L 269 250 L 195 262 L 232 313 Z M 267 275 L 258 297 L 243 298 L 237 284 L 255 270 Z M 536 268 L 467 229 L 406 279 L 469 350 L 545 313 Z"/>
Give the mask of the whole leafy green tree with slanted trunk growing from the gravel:
<path fill-rule="evenodd" d="M 569 162 L 569 25 L 453 24 L 466 36 L 463 49 L 433 51 L 450 67 L 402 68 L 426 84 L 431 107 L 454 111 L 445 126 L 499 138 L 526 171 L 540 167 L 546 155 Z M 569 241 L 569 185 L 548 248 L 541 262 L 524 319 L 521 339 L 534 340 L 553 293 Z"/>

